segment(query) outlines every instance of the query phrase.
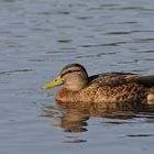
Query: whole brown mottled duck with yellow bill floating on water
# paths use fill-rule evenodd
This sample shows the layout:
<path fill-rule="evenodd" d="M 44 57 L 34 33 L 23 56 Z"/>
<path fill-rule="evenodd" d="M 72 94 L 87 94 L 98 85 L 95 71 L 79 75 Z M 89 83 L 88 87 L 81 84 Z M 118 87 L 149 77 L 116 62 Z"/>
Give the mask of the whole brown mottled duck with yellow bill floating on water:
<path fill-rule="evenodd" d="M 58 102 L 80 105 L 154 103 L 154 75 L 141 76 L 131 73 L 107 73 L 88 77 L 84 66 L 65 66 L 59 76 L 42 88 L 65 84 L 55 99 Z"/>

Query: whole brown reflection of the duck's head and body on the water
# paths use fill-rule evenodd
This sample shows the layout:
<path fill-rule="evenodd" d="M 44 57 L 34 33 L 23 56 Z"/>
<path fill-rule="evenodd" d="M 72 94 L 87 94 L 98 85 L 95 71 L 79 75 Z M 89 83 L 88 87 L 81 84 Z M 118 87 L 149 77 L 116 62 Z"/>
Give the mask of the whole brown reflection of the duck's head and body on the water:
<path fill-rule="evenodd" d="M 154 122 L 154 107 L 143 106 L 134 110 L 96 110 L 92 108 L 66 108 L 63 106 L 45 107 L 44 117 L 56 119 L 54 127 L 64 129 L 65 132 L 86 132 L 88 131 L 88 120 L 92 117 L 106 118 L 108 121 L 103 124 L 125 124 L 130 120 L 145 118 L 145 122 Z M 131 134 L 130 134 L 131 135 Z M 75 140 L 75 142 L 85 142 Z"/>

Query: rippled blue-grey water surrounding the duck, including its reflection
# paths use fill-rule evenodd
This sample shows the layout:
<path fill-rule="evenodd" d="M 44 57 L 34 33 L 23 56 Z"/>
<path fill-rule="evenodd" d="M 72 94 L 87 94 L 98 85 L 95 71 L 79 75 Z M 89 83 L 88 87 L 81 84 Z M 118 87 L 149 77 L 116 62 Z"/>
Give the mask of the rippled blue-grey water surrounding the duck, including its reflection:
<path fill-rule="evenodd" d="M 154 0 L 0 0 L 0 153 L 153 153 L 152 110 L 56 106 L 40 87 L 68 63 L 154 74 Z"/>

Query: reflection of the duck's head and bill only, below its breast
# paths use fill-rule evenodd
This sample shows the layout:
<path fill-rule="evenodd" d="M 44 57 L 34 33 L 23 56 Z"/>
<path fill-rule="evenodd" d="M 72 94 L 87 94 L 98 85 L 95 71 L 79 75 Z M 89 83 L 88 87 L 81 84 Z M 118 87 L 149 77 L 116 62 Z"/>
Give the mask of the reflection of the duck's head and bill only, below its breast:
<path fill-rule="evenodd" d="M 65 132 L 85 132 L 87 131 L 87 120 L 89 116 L 81 113 L 76 109 L 64 109 L 61 106 L 46 107 L 44 109 L 44 114 L 47 117 L 53 117 L 57 120 L 54 127 L 63 128 Z"/>

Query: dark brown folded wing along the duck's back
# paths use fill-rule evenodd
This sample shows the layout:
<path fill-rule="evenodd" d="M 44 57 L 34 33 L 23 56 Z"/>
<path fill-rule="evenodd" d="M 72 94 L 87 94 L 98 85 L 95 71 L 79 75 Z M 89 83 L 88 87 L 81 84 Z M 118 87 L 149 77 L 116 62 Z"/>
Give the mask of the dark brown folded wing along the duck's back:
<path fill-rule="evenodd" d="M 98 84 L 101 86 L 116 87 L 130 82 L 144 85 L 146 87 L 154 86 L 154 75 L 142 76 L 132 73 L 107 73 L 89 77 L 90 84 Z"/>

